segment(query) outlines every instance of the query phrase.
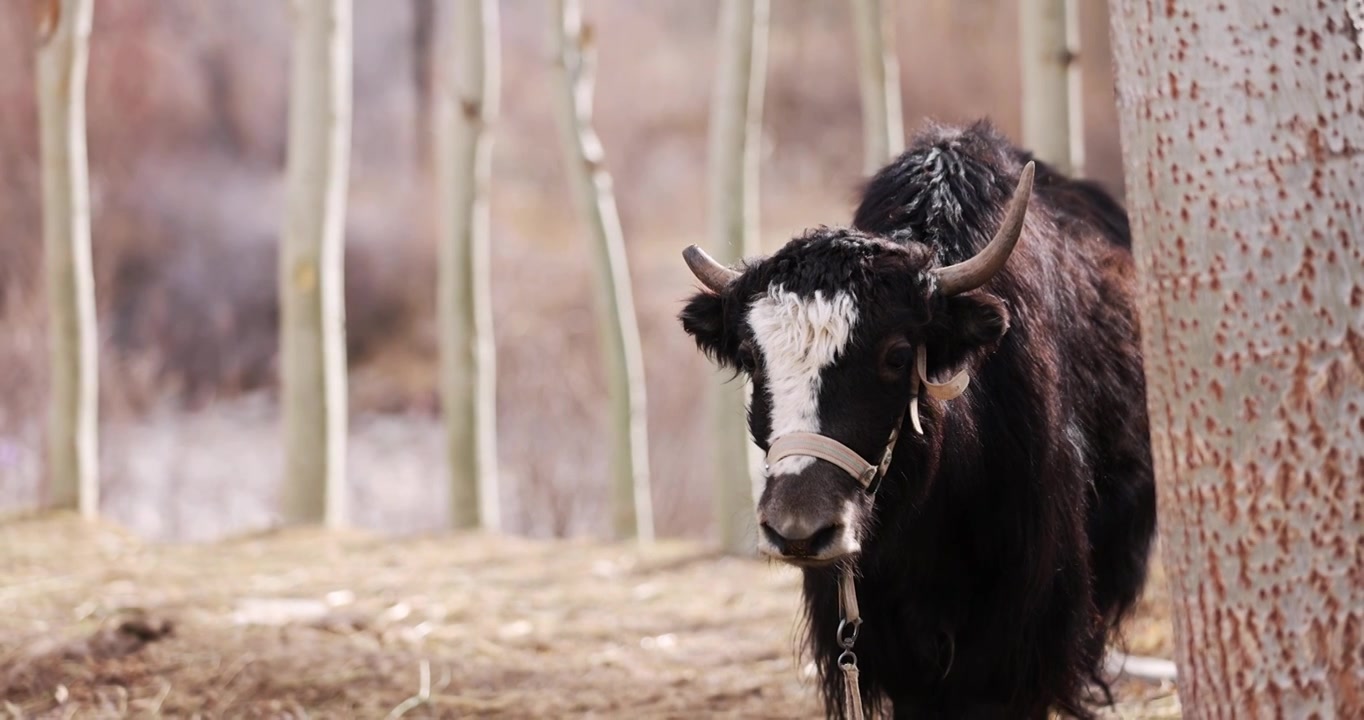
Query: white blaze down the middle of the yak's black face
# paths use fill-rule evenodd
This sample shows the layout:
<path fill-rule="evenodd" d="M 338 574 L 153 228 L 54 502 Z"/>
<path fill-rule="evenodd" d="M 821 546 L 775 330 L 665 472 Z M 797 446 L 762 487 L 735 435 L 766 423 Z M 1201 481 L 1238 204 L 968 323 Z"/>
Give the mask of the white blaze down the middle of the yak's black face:
<path fill-rule="evenodd" d="M 773 285 L 753 301 L 749 327 L 762 352 L 772 401 L 768 442 L 788 432 L 820 431 L 820 378 L 847 348 L 855 325 L 857 304 L 846 292 L 801 297 Z M 782 458 L 769 475 L 797 473 L 813 462 L 803 455 Z"/>

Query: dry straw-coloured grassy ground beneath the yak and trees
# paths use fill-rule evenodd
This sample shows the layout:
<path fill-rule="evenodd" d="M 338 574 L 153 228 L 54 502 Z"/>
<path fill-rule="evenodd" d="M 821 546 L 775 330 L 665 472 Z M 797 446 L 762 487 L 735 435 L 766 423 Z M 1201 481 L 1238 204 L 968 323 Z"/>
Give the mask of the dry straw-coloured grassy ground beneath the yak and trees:
<path fill-rule="evenodd" d="M 0 716 L 818 717 L 797 601 L 795 571 L 692 543 L 0 520 Z M 1165 607 L 1157 574 L 1132 653 L 1168 656 Z M 1169 686 L 1118 700 L 1180 717 Z"/>

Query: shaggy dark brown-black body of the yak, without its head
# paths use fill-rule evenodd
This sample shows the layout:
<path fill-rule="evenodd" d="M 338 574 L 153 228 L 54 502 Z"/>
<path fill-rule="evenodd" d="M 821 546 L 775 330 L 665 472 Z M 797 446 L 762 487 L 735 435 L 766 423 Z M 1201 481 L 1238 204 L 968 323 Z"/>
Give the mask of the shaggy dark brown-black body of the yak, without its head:
<path fill-rule="evenodd" d="M 986 125 L 930 131 L 872 179 L 854 226 L 959 262 L 989 239 L 1028 160 Z M 896 715 L 1087 715 L 1105 645 L 1146 582 L 1155 485 L 1127 215 L 1041 164 L 1028 215 L 986 288 L 1009 330 L 933 436 L 896 455 L 858 562 L 863 689 Z M 926 496 L 906 502 L 903 479 L 926 472 Z M 806 571 L 833 700 L 835 588 L 832 571 Z"/>

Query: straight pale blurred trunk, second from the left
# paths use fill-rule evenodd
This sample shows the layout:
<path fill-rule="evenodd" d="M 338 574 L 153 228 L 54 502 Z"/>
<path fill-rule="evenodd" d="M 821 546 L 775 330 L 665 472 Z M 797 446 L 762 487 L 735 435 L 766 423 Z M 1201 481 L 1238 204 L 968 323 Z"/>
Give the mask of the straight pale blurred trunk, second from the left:
<path fill-rule="evenodd" d="M 288 217 L 280 245 L 285 522 L 345 521 L 351 0 L 295 0 Z"/>

